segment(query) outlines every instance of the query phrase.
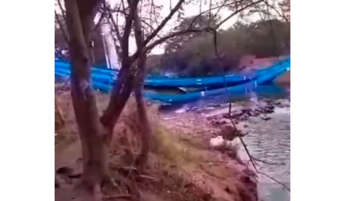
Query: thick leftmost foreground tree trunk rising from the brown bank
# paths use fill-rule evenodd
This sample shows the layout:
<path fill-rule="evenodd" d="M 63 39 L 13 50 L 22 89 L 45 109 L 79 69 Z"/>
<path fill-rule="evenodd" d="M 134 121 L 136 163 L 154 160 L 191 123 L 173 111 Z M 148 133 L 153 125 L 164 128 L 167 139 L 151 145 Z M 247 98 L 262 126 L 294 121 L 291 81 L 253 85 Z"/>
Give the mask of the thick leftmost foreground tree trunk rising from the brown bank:
<path fill-rule="evenodd" d="M 103 140 L 96 97 L 90 84 L 91 61 L 88 41 L 95 6 L 87 8 L 85 4 L 78 5 L 77 0 L 65 1 L 70 36 L 71 96 L 82 145 L 81 184 L 94 195 L 94 198 L 100 199 L 99 185 L 109 175 L 108 147 Z"/>

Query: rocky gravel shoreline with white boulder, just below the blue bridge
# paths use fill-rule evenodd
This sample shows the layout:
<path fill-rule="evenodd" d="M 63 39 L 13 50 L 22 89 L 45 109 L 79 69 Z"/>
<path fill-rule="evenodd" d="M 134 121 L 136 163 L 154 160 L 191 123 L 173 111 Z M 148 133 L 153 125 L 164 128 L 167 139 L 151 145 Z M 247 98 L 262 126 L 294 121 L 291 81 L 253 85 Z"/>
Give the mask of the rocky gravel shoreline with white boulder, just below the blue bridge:
<path fill-rule="evenodd" d="M 182 128 L 196 128 L 197 126 L 200 130 L 207 130 L 208 132 L 202 132 L 204 133 L 202 138 L 208 142 L 210 147 L 223 149 L 224 147 L 237 147 L 240 145 L 240 141 L 236 137 L 238 135 L 243 137 L 248 134 L 246 128 L 248 127 L 247 121 L 249 118 L 260 118 L 269 121 L 272 119 L 270 114 L 278 108 L 289 107 L 289 98 L 276 100 L 259 98 L 258 100 L 232 103 L 231 118 L 238 131 L 235 131 L 228 117 L 228 103 L 207 105 L 203 108 L 194 107 L 184 111 L 176 110 L 176 114 L 171 116 L 172 118 L 174 116 L 178 117 L 178 119 L 172 119 L 172 121 Z M 176 122 L 179 123 L 176 124 Z M 200 127 L 200 125 L 203 126 Z"/>

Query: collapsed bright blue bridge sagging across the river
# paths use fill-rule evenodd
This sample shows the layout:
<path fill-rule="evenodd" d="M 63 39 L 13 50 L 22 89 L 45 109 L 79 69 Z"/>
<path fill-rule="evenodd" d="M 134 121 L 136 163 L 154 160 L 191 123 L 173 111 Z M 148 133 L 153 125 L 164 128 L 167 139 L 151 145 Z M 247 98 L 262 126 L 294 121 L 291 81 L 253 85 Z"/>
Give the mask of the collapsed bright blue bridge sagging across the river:
<path fill-rule="evenodd" d="M 275 63 L 274 65 L 246 73 L 228 74 L 225 76 L 215 76 L 207 78 L 168 78 L 150 77 L 144 82 L 144 86 L 150 89 L 171 89 L 171 88 L 193 88 L 193 92 L 187 93 L 159 93 L 155 91 L 145 91 L 144 96 L 148 99 L 164 102 L 178 103 L 189 102 L 206 97 L 214 97 L 229 93 L 230 96 L 246 94 L 251 91 L 265 90 L 267 83 L 274 80 L 280 74 L 290 70 L 290 58 Z M 70 64 L 65 61 L 55 61 L 55 76 L 68 78 L 70 76 Z M 91 69 L 91 79 L 93 87 L 109 92 L 116 84 L 118 71 L 93 67 Z"/>

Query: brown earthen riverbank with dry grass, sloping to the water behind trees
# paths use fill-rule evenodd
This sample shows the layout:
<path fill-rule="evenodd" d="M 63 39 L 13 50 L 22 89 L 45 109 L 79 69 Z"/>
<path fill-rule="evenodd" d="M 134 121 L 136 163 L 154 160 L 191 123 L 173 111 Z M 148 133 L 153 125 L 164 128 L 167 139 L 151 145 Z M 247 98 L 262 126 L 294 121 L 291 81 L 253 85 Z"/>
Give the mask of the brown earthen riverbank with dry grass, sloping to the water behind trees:
<path fill-rule="evenodd" d="M 78 183 L 81 167 L 81 148 L 78 141 L 70 92 L 56 90 L 57 104 L 64 124 L 55 130 L 55 200 L 78 200 L 74 185 Z M 98 93 L 100 111 L 109 97 Z M 135 102 L 130 100 L 115 127 L 110 163 L 128 166 L 130 155 L 139 150 L 139 133 Z M 145 175 L 136 182 L 145 200 L 257 200 L 257 179 L 254 172 L 238 159 L 235 146 L 212 146 L 210 139 L 218 135 L 219 126 L 200 111 L 179 117 L 161 115 L 158 105 L 148 107 L 154 138 Z M 227 121 L 227 120 L 224 120 Z M 218 127 L 218 128 L 217 128 Z M 228 136 L 231 138 L 230 136 Z M 127 150 L 127 151 L 126 151 Z M 63 171 L 63 170 L 70 171 Z M 126 184 L 119 167 L 111 174 L 119 185 L 112 193 L 125 193 Z M 106 191 L 110 191 L 106 189 Z"/>

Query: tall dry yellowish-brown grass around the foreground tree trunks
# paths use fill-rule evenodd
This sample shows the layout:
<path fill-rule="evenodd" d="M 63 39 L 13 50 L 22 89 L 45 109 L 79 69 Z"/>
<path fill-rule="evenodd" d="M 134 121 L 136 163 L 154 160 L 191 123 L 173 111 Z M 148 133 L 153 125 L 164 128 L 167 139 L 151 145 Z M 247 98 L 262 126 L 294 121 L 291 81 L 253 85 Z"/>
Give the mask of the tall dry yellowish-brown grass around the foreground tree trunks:
<path fill-rule="evenodd" d="M 100 113 L 106 108 L 109 101 L 107 94 L 97 93 L 97 104 Z M 65 120 L 65 127 L 55 132 L 56 144 L 65 148 L 78 139 L 70 93 L 63 91 L 57 93 L 57 103 Z M 179 167 L 191 166 L 205 161 L 205 147 L 202 140 L 193 138 L 184 130 L 168 128 L 158 117 L 158 104 L 147 106 L 147 113 L 151 122 L 153 136 L 151 139 L 151 152 L 161 161 Z M 140 150 L 140 128 L 137 116 L 136 102 L 130 97 L 114 129 L 112 149 L 118 154 L 124 154 L 126 149 L 137 154 Z M 119 162 L 119 161 L 118 161 Z"/>

